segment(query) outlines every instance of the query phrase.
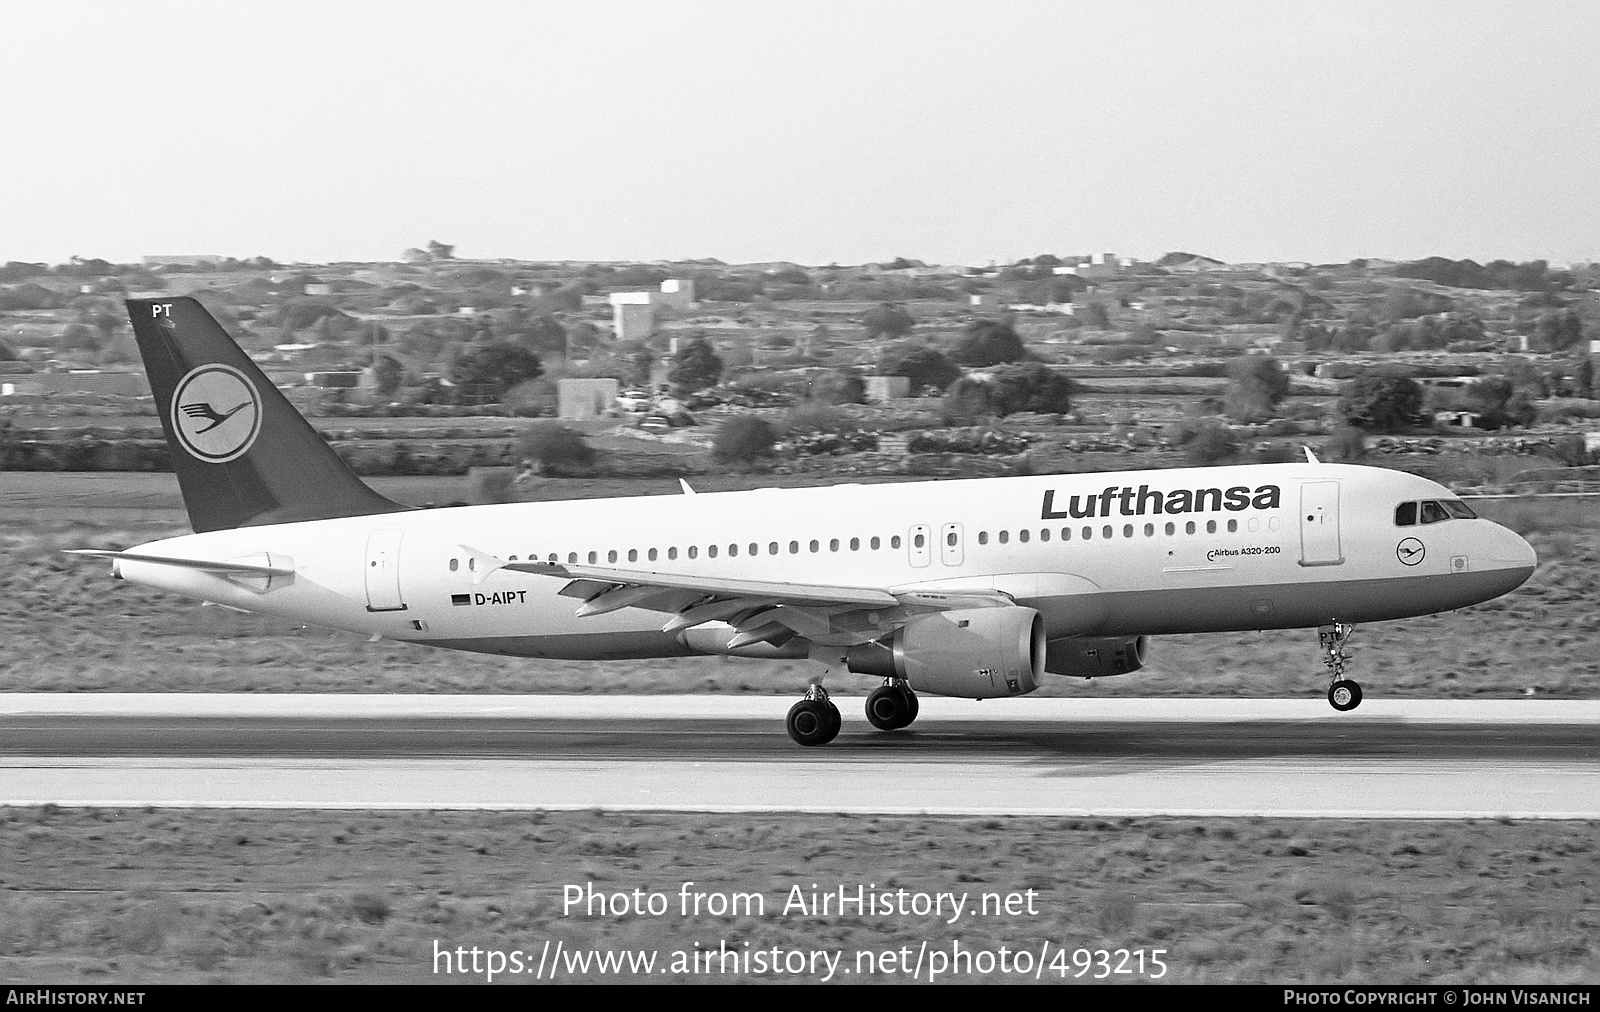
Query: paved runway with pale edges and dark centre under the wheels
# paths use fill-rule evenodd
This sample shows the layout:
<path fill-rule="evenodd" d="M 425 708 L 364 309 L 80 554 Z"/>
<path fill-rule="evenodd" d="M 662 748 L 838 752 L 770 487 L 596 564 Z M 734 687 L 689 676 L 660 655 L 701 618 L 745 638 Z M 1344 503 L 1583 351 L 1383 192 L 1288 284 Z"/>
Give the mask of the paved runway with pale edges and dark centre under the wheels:
<path fill-rule="evenodd" d="M 0 695 L 0 804 L 1600 818 L 1600 701 Z"/>

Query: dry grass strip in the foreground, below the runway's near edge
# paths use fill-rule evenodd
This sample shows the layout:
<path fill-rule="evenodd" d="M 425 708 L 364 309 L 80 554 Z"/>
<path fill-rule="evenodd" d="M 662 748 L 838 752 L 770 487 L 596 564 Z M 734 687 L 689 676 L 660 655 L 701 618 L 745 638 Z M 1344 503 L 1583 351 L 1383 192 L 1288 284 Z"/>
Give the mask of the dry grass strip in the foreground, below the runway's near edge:
<path fill-rule="evenodd" d="M 843 950 L 845 966 L 856 950 L 915 951 L 928 942 L 949 951 L 958 940 L 992 951 L 1037 953 L 1045 942 L 1069 953 L 1166 950 L 1165 978 L 1189 983 L 1595 982 L 1595 829 L 0 809 L 0 978 L 461 982 L 434 975 L 435 940 L 531 951 L 530 966 L 546 940 L 658 950 L 661 959 L 723 942 L 826 948 Z M 704 892 L 762 894 L 765 914 L 682 916 L 686 881 Z M 666 894 L 669 913 L 563 916 L 563 887 L 587 882 L 603 894 Z M 856 884 L 966 892 L 973 903 L 984 892 L 1034 889 L 1037 913 L 957 924 L 899 913 L 781 914 L 792 886 L 810 894 Z M 1059 966 L 1067 978 L 1078 972 L 1070 956 Z"/>

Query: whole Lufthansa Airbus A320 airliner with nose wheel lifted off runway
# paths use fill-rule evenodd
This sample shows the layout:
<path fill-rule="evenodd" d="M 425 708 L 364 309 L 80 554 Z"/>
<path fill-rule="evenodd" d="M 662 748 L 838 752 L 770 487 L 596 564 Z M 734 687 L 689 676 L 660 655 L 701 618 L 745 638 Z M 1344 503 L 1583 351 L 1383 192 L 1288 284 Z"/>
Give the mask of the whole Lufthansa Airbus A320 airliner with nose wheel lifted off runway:
<path fill-rule="evenodd" d="M 194 299 L 130 299 L 192 535 L 134 583 L 368 636 L 541 658 L 718 653 L 992 698 L 1138 671 L 1163 632 L 1317 629 L 1338 709 L 1357 623 L 1520 586 L 1520 536 L 1379 468 L 1248 464 L 413 509 L 368 488 Z M 818 677 L 800 745 L 840 730 Z"/>

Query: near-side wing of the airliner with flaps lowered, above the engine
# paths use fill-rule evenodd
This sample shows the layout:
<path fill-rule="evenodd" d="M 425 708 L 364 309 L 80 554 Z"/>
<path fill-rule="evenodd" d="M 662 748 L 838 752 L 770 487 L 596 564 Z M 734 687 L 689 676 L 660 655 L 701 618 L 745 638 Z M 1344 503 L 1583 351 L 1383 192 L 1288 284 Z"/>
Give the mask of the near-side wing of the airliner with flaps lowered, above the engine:
<path fill-rule="evenodd" d="M 925 612 L 1014 604 L 997 591 L 893 592 L 888 588 L 691 576 L 616 565 L 509 562 L 469 544 L 461 548 L 469 552 L 475 583 L 496 570 L 562 578 L 566 586 L 560 594 L 579 600 L 579 616 L 619 608 L 662 612 L 667 615 L 662 632 L 725 621 L 734 628 L 730 649 L 757 642 L 781 645 L 794 636 L 826 645 L 854 645 L 882 639 Z"/>

